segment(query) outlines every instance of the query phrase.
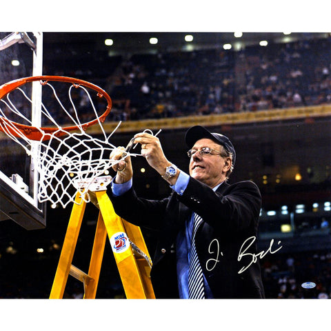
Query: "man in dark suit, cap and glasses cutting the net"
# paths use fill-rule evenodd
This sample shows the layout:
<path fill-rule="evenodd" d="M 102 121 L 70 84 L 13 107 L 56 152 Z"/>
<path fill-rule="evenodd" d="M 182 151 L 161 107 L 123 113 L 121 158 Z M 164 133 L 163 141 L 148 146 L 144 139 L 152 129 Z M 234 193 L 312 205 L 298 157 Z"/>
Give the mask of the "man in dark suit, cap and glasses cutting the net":
<path fill-rule="evenodd" d="M 151 280 L 157 298 L 264 298 L 257 252 L 261 194 L 252 181 L 230 185 L 236 152 L 228 137 L 186 132 L 190 174 L 166 159 L 157 137 L 136 134 L 146 161 L 168 181 L 170 197 L 147 200 L 132 187 L 130 157 L 113 166 L 110 199 L 119 216 L 157 232 Z M 111 159 L 121 159 L 114 150 Z"/>

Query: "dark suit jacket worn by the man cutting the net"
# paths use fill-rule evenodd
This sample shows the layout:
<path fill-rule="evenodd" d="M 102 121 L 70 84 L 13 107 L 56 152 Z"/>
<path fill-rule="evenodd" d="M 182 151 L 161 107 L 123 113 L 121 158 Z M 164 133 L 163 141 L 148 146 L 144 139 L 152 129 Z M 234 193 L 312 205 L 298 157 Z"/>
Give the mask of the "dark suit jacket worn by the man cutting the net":
<path fill-rule="evenodd" d="M 161 201 L 147 200 L 137 197 L 131 188 L 121 197 L 114 197 L 110 192 L 110 199 L 120 217 L 158 233 L 151 271 L 157 298 L 179 297 L 174 243 L 192 211 L 203 219 L 195 241 L 203 274 L 214 298 L 264 297 L 259 258 L 254 255 L 257 254 L 254 238 L 257 238 L 261 194 L 252 181 L 223 183 L 214 192 L 190 177 L 183 195 L 172 192 Z"/>

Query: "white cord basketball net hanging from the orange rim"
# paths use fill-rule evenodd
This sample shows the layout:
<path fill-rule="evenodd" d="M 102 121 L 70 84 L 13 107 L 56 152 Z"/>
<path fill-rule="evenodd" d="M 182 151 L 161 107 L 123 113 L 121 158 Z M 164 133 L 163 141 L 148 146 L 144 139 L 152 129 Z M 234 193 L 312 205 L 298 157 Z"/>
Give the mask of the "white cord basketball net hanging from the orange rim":
<path fill-rule="evenodd" d="M 52 83 L 52 85 L 54 85 Z M 63 99 L 59 100 L 57 92 L 50 83 L 47 83 L 44 88 L 51 89 L 52 104 L 57 103 L 60 110 L 57 111 L 57 115 L 61 113 L 66 115 L 63 119 L 68 124 L 71 122 L 71 126 L 77 126 L 79 130 L 76 132 L 69 132 L 63 129 L 60 123 L 57 123 L 57 119 L 50 113 L 50 106 L 45 105 L 45 101 L 41 105 L 42 117 L 44 120 L 52 123 L 52 126 L 56 127 L 57 130 L 52 134 L 46 133 L 42 128 L 38 128 L 41 132 L 41 139 L 39 141 L 32 141 L 22 134 L 21 131 L 17 130 L 17 127 L 12 125 L 10 121 L 14 119 L 21 119 L 32 126 L 32 122 L 24 114 L 24 102 L 20 102 L 21 108 L 15 106 L 12 100 L 20 100 L 23 96 L 24 100 L 28 100 L 29 103 L 32 101 L 28 98 L 23 88 L 17 88 L 15 90 L 15 97 L 10 97 L 10 92 L 6 99 L 1 99 L 0 103 L 0 116 L 10 121 L 0 122 L 1 130 L 6 132 L 8 136 L 19 143 L 19 145 L 26 150 L 26 153 L 34 157 L 34 164 L 39 172 L 39 192 L 37 194 L 40 202 L 50 201 L 53 204 L 60 203 L 63 208 L 70 202 L 74 202 L 77 194 L 77 190 L 81 192 L 83 201 L 89 202 L 90 197 L 88 190 L 93 181 L 100 176 L 108 174 L 108 169 L 112 165 L 119 163 L 123 160 L 127 154 L 124 154 L 118 161 L 110 161 L 110 153 L 117 147 L 110 143 L 109 139 L 114 132 L 119 128 L 121 122 L 107 137 L 106 132 L 103 130 L 103 126 L 98 119 L 99 128 L 101 130 L 101 138 L 92 137 L 90 134 L 83 130 L 82 123 L 79 119 L 83 118 L 84 114 L 93 114 L 98 118 L 98 112 L 94 102 L 90 96 L 90 92 L 83 86 L 70 86 L 68 90 L 68 106 L 64 106 Z M 72 88 L 79 88 L 79 99 L 73 97 Z M 19 94 L 21 94 L 19 96 Z M 44 90 L 43 90 L 44 94 Z M 63 98 L 63 94 L 61 94 Z M 17 105 L 17 102 L 15 103 Z M 4 105 L 4 106 L 3 106 Z M 23 106 L 22 106 L 23 105 Z M 79 107 L 84 108 L 84 114 L 79 111 Z M 54 110 L 52 106 L 52 110 Z M 10 116 L 8 116 L 10 114 Z M 54 114 L 54 112 L 53 112 Z M 9 119 L 9 117 L 11 117 Z M 84 123 L 86 121 L 84 120 Z M 20 122 L 21 123 L 21 122 Z M 10 133 L 10 130 L 14 130 L 19 137 L 15 137 L 14 134 Z M 77 132 L 78 131 L 78 132 Z M 57 137 L 59 133 L 65 133 L 62 137 Z M 44 137 L 50 137 L 48 140 L 43 140 Z M 33 148 L 37 148 L 37 152 L 32 152 Z M 122 151 L 123 152 L 123 151 Z M 128 153 L 131 156 L 137 156 L 139 154 Z"/>

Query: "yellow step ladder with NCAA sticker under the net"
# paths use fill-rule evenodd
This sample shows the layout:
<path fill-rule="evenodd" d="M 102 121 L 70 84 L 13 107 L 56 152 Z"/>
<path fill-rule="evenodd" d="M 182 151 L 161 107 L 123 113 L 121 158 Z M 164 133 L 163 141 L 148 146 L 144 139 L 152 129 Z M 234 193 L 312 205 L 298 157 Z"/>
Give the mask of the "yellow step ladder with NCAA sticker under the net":
<path fill-rule="evenodd" d="M 155 299 L 150 281 L 152 261 L 143 235 L 138 226 L 121 219 L 114 212 L 106 192 L 106 185 L 110 183 L 110 180 L 110 176 L 98 177 L 96 183 L 91 185 L 88 191 L 91 201 L 99 208 L 99 218 L 87 274 L 72 265 L 79 230 L 86 209 L 86 201 L 81 197 L 81 192 L 77 192 L 50 292 L 50 299 L 63 298 L 69 274 L 83 283 L 84 299 L 95 299 L 107 234 L 126 298 Z"/>

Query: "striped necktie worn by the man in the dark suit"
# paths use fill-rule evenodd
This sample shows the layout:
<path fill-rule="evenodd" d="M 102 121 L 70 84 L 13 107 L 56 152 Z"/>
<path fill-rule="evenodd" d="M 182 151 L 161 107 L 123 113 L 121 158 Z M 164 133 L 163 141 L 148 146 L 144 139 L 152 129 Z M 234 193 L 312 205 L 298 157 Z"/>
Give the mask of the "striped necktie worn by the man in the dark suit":
<path fill-rule="evenodd" d="M 198 214 L 194 214 L 190 261 L 188 263 L 188 299 L 205 299 L 203 273 L 194 243 L 195 234 L 197 233 L 197 228 L 201 222 L 201 217 L 199 217 Z"/>

